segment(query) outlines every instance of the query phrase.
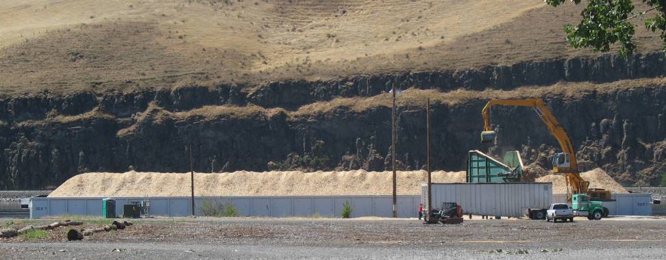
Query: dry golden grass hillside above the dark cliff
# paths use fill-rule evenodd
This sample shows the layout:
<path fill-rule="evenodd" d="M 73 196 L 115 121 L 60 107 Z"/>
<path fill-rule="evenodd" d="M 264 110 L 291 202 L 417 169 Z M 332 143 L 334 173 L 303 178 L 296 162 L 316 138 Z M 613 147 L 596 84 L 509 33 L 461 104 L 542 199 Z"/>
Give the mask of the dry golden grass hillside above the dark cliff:
<path fill-rule="evenodd" d="M 564 42 L 561 28 L 578 12 L 536 0 L 7 0 L 0 93 L 253 85 L 594 55 Z M 642 27 L 637 36 L 641 51 L 659 49 Z"/>

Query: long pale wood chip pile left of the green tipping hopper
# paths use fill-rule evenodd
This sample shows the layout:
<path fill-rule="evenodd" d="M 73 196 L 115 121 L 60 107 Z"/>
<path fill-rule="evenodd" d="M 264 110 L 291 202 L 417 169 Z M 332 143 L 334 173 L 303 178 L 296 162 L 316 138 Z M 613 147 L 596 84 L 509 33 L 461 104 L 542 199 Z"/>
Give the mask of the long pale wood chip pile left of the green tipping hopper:
<path fill-rule="evenodd" d="M 426 172 L 397 172 L 397 194 L 421 193 Z M 464 183 L 465 172 L 432 172 L 434 183 Z M 195 173 L 195 196 L 388 195 L 391 172 Z M 90 172 L 65 181 L 49 197 L 189 196 L 189 173 Z"/>

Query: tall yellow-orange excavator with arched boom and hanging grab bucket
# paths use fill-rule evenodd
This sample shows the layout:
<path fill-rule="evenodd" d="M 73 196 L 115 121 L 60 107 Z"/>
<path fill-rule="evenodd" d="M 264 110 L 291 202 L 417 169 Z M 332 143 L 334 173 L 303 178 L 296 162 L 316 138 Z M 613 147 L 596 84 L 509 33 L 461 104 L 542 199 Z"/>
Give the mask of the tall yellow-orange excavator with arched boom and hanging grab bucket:
<path fill-rule="evenodd" d="M 481 132 L 481 142 L 493 142 L 495 140 L 495 131 L 490 125 L 490 108 L 493 105 L 513 105 L 518 107 L 532 107 L 534 112 L 548 127 L 550 134 L 555 137 L 562 148 L 562 153 L 556 153 L 553 157 L 553 172 L 556 174 L 565 174 L 567 185 L 571 190 L 567 194 L 567 200 L 571 201 L 572 194 L 588 194 L 593 200 L 611 200 L 610 191 L 604 189 L 590 189 L 589 181 L 580 177 L 578 164 L 576 164 L 576 152 L 573 150 L 571 140 L 560 122 L 555 119 L 548 107 L 541 99 L 495 99 L 489 101 L 481 112 L 484 119 L 484 127 Z"/>

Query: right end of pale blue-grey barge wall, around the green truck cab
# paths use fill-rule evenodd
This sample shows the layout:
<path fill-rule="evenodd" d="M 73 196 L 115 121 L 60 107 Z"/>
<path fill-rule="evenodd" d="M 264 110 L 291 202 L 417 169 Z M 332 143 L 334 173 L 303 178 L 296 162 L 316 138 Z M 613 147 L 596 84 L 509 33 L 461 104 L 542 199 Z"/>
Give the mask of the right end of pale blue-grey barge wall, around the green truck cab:
<path fill-rule="evenodd" d="M 602 201 L 609 216 L 652 216 L 650 193 L 610 194 L 610 198 L 615 201 Z M 554 194 L 553 203 L 567 203 L 567 194 Z"/>

